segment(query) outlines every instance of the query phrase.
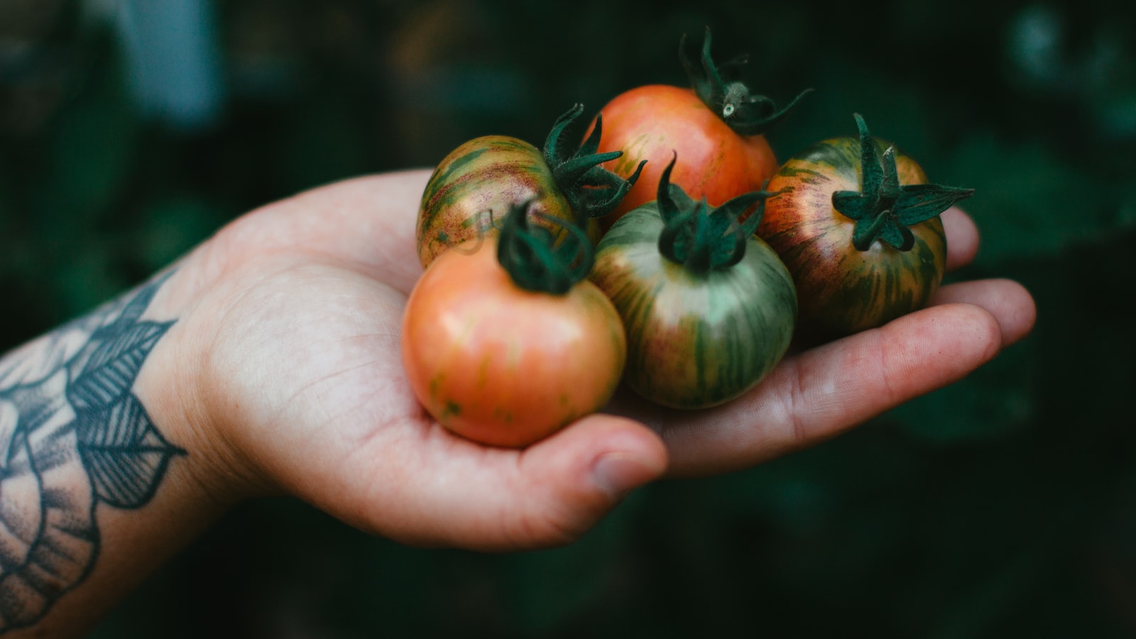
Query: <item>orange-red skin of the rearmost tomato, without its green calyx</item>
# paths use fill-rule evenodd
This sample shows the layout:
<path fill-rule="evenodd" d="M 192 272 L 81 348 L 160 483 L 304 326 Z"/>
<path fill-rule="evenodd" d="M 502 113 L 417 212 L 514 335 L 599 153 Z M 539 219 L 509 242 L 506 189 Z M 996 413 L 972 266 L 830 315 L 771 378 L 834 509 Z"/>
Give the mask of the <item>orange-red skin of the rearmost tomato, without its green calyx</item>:
<path fill-rule="evenodd" d="M 655 184 L 675 152 L 683 161 L 675 167 L 671 183 L 695 200 L 705 197 L 712 206 L 761 190 L 777 171 L 774 150 L 763 135 L 738 135 L 693 89 L 638 86 L 617 96 L 600 113 L 600 151 L 624 151 L 603 166 L 626 177 L 641 160 L 648 160 L 623 202 L 601 219 L 604 227 L 654 200 Z"/>

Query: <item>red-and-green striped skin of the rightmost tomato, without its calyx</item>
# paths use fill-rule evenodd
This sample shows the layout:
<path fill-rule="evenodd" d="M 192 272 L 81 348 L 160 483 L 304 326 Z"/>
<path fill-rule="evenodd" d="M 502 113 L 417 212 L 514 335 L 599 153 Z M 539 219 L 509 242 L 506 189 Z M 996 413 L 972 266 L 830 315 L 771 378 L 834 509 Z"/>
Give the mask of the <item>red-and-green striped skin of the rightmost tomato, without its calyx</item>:
<path fill-rule="evenodd" d="M 880 152 L 891 146 L 874 141 Z M 909 251 L 879 241 L 866 251 L 852 246 L 855 223 L 833 207 L 833 193 L 860 190 L 860 163 L 859 139 L 825 140 L 786 160 L 767 186 L 784 191 L 767 200 L 758 235 L 793 273 L 802 329 L 818 338 L 880 326 L 924 307 L 946 268 L 938 216 L 910 226 Z M 927 182 L 899 149 L 895 163 L 901 185 Z"/>

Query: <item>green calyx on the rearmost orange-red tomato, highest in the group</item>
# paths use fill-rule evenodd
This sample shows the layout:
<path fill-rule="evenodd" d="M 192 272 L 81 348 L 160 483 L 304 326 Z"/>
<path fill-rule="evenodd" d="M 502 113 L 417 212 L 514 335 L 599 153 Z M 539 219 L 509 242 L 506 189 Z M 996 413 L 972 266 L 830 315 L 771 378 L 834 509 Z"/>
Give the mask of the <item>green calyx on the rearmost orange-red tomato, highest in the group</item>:
<path fill-rule="evenodd" d="M 735 80 L 735 73 L 749 63 L 747 56 L 738 56 L 725 64 L 716 65 L 710 57 L 710 27 L 702 41 L 701 65 L 696 66 L 686 53 L 686 35 L 678 45 L 678 58 L 691 80 L 691 86 L 710 110 L 718 114 L 738 135 L 760 135 L 785 119 L 801 98 L 812 91 L 805 89 L 785 108 L 765 96 L 750 92 L 750 88 Z"/>

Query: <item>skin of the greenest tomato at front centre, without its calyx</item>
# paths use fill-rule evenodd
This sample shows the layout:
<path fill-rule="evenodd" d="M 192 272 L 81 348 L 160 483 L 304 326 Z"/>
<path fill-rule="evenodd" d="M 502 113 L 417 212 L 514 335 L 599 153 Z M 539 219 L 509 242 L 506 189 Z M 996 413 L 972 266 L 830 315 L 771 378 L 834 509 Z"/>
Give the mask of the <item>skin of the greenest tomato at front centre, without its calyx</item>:
<path fill-rule="evenodd" d="M 662 406 L 724 404 L 757 385 L 788 349 L 792 277 L 757 236 L 738 264 L 691 272 L 659 252 L 662 229 L 651 202 L 616 222 L 598 247 L 591 279 L 627 331 L 624 379 Z"/>

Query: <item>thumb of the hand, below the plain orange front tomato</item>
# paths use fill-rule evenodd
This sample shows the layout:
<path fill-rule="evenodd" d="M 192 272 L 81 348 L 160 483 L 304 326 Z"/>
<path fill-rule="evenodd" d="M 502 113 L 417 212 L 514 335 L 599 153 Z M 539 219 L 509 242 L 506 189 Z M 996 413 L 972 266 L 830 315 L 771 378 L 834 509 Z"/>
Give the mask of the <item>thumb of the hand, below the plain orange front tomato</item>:
<path fill-rule="evenodd" d="M 415 504 L 400 520 L 416 525 L 407 534 L 386 532 L 412 543 L 492 551 L 560 546 L 666 468 L 667 449 L 654 431 L 590 415 L 520 451 L 450 456 L 421 473 L 429 480 L 418 483 L 418 495 L 398 500 Z"/>

